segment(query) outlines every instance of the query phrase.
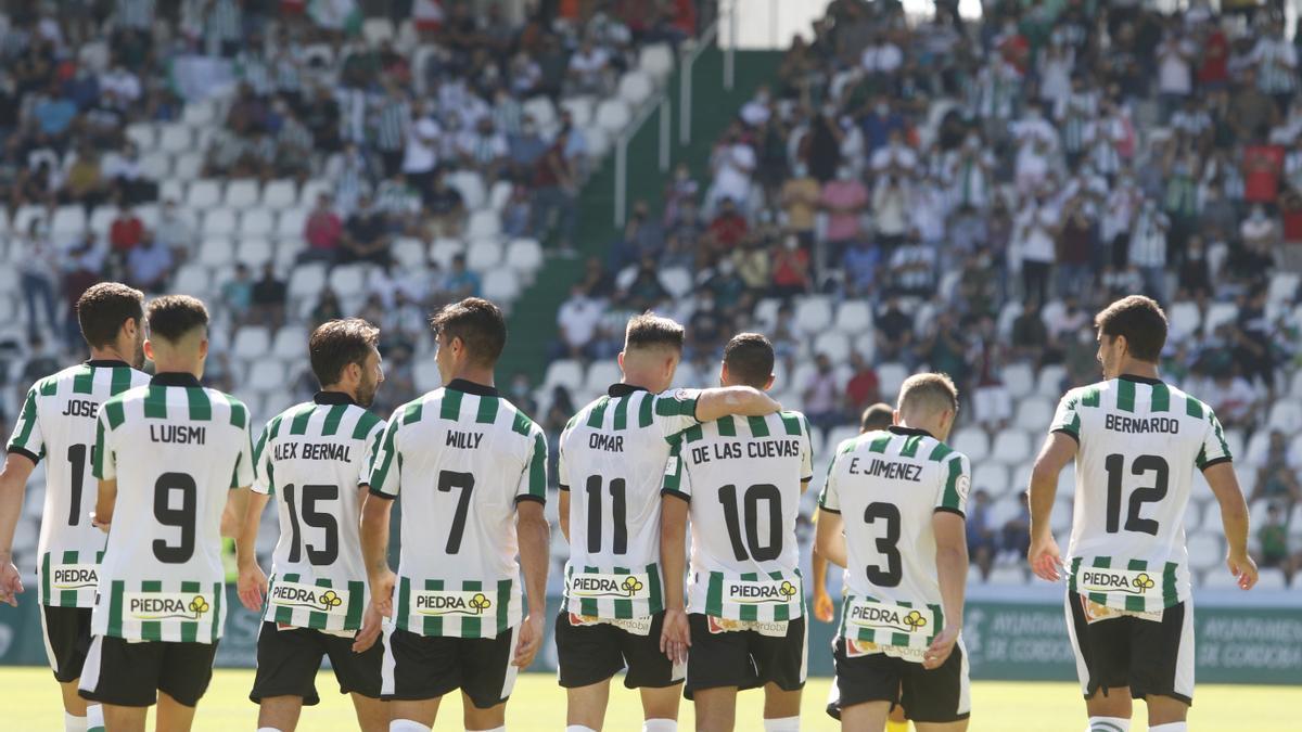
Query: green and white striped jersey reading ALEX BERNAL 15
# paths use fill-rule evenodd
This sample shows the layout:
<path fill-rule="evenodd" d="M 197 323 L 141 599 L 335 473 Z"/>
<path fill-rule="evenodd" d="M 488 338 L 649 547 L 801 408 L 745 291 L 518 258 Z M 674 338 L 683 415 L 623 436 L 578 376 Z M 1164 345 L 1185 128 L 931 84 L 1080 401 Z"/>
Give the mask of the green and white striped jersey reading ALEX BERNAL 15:
<path fill-rule="evenodd" d="M 263 620 L 355 632 L 366 608 L 362 494 L 384 421 L 348 395 L 319 392 L 267 422 L 253 490 L 276 500 L 280 539 Z"/>

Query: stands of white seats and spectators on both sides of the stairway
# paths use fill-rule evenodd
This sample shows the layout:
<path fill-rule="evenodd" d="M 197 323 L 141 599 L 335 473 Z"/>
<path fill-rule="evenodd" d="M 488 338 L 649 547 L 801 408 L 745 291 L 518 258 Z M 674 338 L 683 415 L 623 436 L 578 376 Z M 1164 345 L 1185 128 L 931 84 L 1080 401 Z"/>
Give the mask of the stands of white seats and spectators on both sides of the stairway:
<path fill-rule="evenodd" d="M 305 335 L 345 314 L 384 328 L 379 413 L 436 387 L 424 315 L 467 293 L 509 309 L 573 253 L 581 186 L 668 82 L 698 13 L 3 5 L 5 425 L 22 389 L 79 357 L 66 303 L 100 277 L 203 297 L 207 379 L 256 419 L 310 395 Z M 711 383 L 723 341 L 759 330 L 825 465 L 859 408 L 945 370 L 965 395 L 953 442 L 990 499 L 971 524 L 995 551 L 974 574 L 1019 584 L 1019 491 L 1056 400 L 1096 378 L 1090 318 L 1147 292 L 1172 322 L 1164 374 L 1212 397 L 1254 547 L 1290 581 L 1302 106 L 1282 21 L 1068 3 L 960 22 L 952 5 L 919 18 L 832 3 L 736 111 L 708 175 L 680 167 L 659 207 L 635 203 L 598 262 L 575 260 L 551 361 L 536 384 L 512 375 L 513 397 L 555 440 L 617 379 L 630 314 L 687 324 L 681 384 Z M 1065 474 L 1057 521 L 1073 486 Z M 1195 498 L 1191 564 L 1224 582 L 1211 494 Z M 25 569 L 39 496 L 26 511 Z"/>

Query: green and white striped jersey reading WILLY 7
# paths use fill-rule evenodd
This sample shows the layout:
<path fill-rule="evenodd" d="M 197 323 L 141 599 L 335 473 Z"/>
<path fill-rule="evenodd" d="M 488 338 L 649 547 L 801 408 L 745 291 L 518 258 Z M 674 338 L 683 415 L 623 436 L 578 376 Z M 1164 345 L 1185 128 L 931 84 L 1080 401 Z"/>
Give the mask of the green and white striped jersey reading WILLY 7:
<path fill-rule="evenodd" d="M 398 628 L 493 638 L 519 624 L 516 504 L 547 500 L 538 425 L 497 389 L 453 379 L 393 412 L 370 486 L 402 499 Z"/>

